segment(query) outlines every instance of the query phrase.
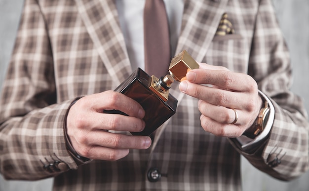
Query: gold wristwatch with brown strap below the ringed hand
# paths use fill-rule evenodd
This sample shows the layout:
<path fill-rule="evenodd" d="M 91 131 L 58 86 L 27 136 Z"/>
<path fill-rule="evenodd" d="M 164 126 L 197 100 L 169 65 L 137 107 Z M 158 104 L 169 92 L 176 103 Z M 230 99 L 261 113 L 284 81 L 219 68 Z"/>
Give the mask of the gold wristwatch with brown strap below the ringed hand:
<path fill-rule="evenodd" d="M 267 100 L 263 99 L 263 106 L 262 106 L 262 108 L 259 112 L 258 117 L 254 121 L 253 125 L 251 127 L 249 127 L 243 133 L 243 135 L 245 135 L 245 136 L 247 136 L 251 139 L 256 138 L 256 136 L 258 136 L 264 130 L 264 127 L 266 126 L 269 115 L 270 115 L 270 106 L 269 106 Z"/>

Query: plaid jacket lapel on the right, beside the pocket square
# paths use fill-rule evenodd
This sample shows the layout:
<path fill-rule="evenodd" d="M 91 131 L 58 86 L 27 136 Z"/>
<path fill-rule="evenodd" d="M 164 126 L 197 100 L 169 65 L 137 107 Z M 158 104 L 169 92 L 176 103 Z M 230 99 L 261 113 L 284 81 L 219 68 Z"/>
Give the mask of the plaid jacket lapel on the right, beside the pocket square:
<path fill-rule="evenodd" d="M 215 36 L 228 0 L 185 0 L 176 53 L 187 50 L 201 62 Z"/>

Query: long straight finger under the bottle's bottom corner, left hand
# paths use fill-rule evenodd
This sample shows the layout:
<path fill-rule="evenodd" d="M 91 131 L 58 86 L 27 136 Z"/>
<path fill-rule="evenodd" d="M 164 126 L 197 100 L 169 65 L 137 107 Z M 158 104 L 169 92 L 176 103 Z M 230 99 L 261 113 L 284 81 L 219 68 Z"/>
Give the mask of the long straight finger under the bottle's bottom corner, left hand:
<path fill-rule="evenodd" d="M 80 144 L 107 147 L 111 149 L 148 149 L 151 145 L 148 136 L 132 136 L 107 131 L 92 131 L 87 135 L 87 142 Z"/>

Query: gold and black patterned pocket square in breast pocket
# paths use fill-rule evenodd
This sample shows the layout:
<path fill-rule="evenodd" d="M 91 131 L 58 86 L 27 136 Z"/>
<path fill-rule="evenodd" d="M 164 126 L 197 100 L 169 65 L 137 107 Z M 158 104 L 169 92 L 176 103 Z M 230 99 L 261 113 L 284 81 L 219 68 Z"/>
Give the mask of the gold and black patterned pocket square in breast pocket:
<path fill-rule="evenodd" d="M 235 34 L 231 21 L 228 19 L 228 14 L 224 13 L 220 20 L 216 35 L 213 40 L 229 40 L 241 39 L 240 35 Z"/>

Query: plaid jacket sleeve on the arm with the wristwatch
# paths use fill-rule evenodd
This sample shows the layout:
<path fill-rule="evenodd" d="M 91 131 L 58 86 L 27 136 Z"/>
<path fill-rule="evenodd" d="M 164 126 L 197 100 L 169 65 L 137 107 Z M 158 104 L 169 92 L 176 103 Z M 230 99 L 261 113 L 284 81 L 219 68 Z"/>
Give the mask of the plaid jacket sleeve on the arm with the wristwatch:
<path fill-rule="evenodd" d="M 274 108 L 271 130 L 254 152 L 237 151 L 255 167 L 280 180 L 291 180 L 308 170 L 309 125 L 303 100 L 290 91 L 289 52 L 270 0 L 260 0 L 249 58 L 253 76 Z"/>

